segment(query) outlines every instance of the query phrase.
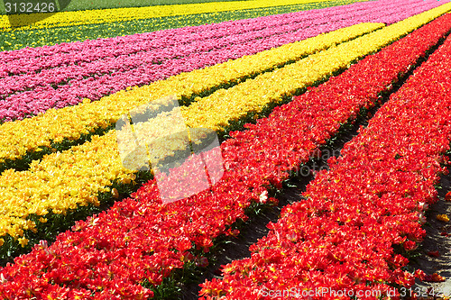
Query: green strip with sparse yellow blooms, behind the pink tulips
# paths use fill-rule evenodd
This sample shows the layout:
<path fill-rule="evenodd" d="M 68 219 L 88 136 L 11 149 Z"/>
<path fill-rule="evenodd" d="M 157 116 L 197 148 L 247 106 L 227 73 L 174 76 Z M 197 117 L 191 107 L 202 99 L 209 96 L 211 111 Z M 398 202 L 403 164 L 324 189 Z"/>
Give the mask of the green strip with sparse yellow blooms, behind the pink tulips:
<path fill-rule="evenodd" d="M 78 26 L 33 30 L 17 29 L 9 32 L 0 32 L 0 50 L 18 50 L 25 47 L 41 47 L 44 45 L 55 45 L 63 42 L 114 38 L 116 36 L 131 35 L 135 33 L 156 32 L 185 26 L 221 23 L 272 14 L 288 14 L 311 9 L 347 5 L 354 2 L 357 1 L 335 0 L 308 3 L 304 5 L 254 8 L 232 12 L 167 16 L 129 22 L 84 24 Z"/>

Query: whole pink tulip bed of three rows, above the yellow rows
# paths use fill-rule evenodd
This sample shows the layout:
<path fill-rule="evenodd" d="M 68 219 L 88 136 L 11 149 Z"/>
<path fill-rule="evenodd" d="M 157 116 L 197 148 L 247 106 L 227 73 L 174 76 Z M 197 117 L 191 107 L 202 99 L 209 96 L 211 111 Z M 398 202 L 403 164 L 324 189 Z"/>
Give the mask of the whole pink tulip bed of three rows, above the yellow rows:
<path fill-rule="evenodd" d="M 38 59 L 14 61 L 13 57 L 9 57 L 8 60 L 12 61 L 6 65 L 8 67 L 5 67 L 4 74 L 11 74 L 11 71 L 13 74 L 25 74 L 0 78 L 0 99 L 4 100 L 0 101 L 0 120 L 21 120 L 44 113 L 52 107 L 77 105 L 83 98 L 95 101 L 127 86 L 147 85 L 181 72 L 238 59 L 363 21 L 382 19 L 394 23 L 428 6 L 424 3 L 387 5 L 373 2 L 373 5 L 363 7 L 354 6 L 354 10 L 348 12 L 345 6 L 339 6 L 325 12 L 319 10 L 317 14 L 290 14 L 283 19 L 273 18 L 275 20 L 265 18 L 252 26 L 235 26 L 235 32 L 228 32 L 226 36 L 224 28 L 229 28 L 228 24 L 221 27 L 222 31 L 205 36 L 191 32 L 186 36 L 175 35 L 170 39 L 165 36 L 149 41 L 139 35 L 129 37 L 127 41 L 117 39 L 111 48 L 104 45 L 95 50 L 88 49 L 87 42 L 87 45 L 83 43 L 78 46 L 82 52 L 77 51 L 78 56 L 84 59 L 78 59 L 72 51 L 60 53 L 61 56 L 41 56 Z M 173 43 L 173 46 L 161 50 L 156 48 L 167 42 Z M 185 50 L 180 50 L 181 44 Z M 58 51 L 57 47 L 53 48 Z M 21 52 L 18 54 L 23 55 Z M 105 55 L 102 60 L 97 60 Z M 69 63 L 69 66 L 42 68 L 42 64 L 58 66 L 62 62 Z"/>

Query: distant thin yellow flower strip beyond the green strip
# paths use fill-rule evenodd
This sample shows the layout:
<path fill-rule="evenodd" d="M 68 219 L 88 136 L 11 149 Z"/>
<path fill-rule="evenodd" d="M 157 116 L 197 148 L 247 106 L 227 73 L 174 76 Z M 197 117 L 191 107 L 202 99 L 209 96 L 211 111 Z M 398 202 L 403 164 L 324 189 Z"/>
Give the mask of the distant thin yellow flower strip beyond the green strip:
<path fill-rule="evenodd" d="M 3 15 L 0 19 L 0 29 L 3 31 L 12 30 L 10 23 L 11 18 L 14 18 L 14 26 L 21 26 L 22 24 L 23 27 L 20 29 L 27 30 L 60 26 L 77 26 L 84 24 L 124 22 L 173 15 L 206 14 L 272 6 L 299 5 L 323 1 L 327 0 L 279 0 L 277 2 L 272 0 L 252 0 L 189 5 L 125 7 L 76 12 L 60 12 L 57 14 L 49 13 L 49 17 L 43 20 L 43 14 Z"/>

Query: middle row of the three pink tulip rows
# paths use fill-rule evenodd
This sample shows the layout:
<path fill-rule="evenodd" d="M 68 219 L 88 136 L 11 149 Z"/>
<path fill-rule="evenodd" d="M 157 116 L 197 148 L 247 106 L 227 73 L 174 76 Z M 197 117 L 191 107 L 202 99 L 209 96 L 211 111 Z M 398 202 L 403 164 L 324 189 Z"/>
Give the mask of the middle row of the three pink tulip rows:
<path fill-rule="evenodd" d="M 382 9 L 379 10 L 382 11 Z M 364 15 L 373 15 L 381 14 L 382 12 L 367 10 L 363 13 Z M 359 16 L 363 18 L 364 15 L 360 16 L 354 12 L 336 15 L 331 14 L 327 16 L 327 18 L 305 20 L 303 22 L 295 21 L 292 23 L 275 25 L 270 28 L 245 31 L 245 33 L 240 32 L 239 34 L 230 34 L 228 36 L 215 37 L 214 39 L 208 40 L 193 40 L 183 47 L 176 45 L 153 50 L 144 47 L 133 54 L 127 53 L 129 51 L 124 49 L 125 54 L 120 54 L 116 57 L 106 57 L 101 60 L 96 59 L 87 62 L 79 62 L 77 65 L 69 65 L 60 68 L 41 69 L 39 73 L 28 71 L 26 74 L 0 78 L 0 99 L 5 100 L 5 96 L 7 95 L 27 89 L 34 89 L 37 86 L 46 87 L 50 90 L 52 85 L 60 85 L 71 79 L 79 80 L 94 75 L 102 76 L 113 72 L 125 72 L 141 65 L 152 65 L 152 63 L 155 64 L 165 60 L 179 59 L 198 52 L 221 50 L 229 48 L 231 45 L 235 48 L 244 43 L 247 46 L 249 42 L 258 42 L 258 40 L 271 41 L 272 37 L 282 34 L 286 35 L 290 32 L 293 34 L 298 32 L 318 32 L 318 30 L 315 30 L 315 27 L 318 25 L 334 23 Z M 154 67 L 160 68 L 159 66 Z"/>

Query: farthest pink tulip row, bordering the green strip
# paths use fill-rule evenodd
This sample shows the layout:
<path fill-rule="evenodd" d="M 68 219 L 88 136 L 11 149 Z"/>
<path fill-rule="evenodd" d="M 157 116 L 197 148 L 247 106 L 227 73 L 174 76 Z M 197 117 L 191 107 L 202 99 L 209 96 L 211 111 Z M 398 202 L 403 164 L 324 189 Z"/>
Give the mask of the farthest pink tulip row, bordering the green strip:
<path fill-rule="evenodd" d="M 428 9 L 442 5 L 437 1 L 419 1 L 419 0 L 403 0 L 402 3 L 396 5 L 411 5 L 415 9 L 414 12 L 407 11 L 404 14 L 419 14 Z M 417 5 L 420 5 L 417 6 Z M 151 45 L 157 49 L 164 45 L 182 45 L 190 42 L 193 38 L 198 39 L 214 38 L 216 36 L 224 36 L 228 32 L 235 32 L 235 30 L 245 31 L 250 28 L 253 30 L 263 29 L 265 26 L 271 26 L 272 20 L 278 20 L 283 23 L 287 20 L 290 23 L 292 16 L 305 17 L 311 19 L 324 18 L 341 7 L 348 11 L 358 11 L 370 7 L 384 6 L 387 10 L 391 10 L 394 4 L 387 0 L 354 3 L 352 5 L 340 5 L 333 7 L 326 7 L 322 9 L 313 9 L 308 11 L 294 12 L 290 14 L 276 14 L 269 16 L 262 16 L 257 18 L 250 18 L 244 20 L 227 21 L 222 23 L 212 23 L 206 25 L 199 25 L 194 27 L 173 28 L 158 32 L 144 32 L 128 36 L 119 36 L 107 39 L 97 39 L 92 41 L 76 41 L 63 42 L 52 46 L 43 46 L 37 48 L 24 48 L 20 50 L 11 50 L 0 52 L 0 61 L 3 62 L 0 67 L 0 76 L 18 75 L 27 71 L 38 71 L 41 68 L 56 68 L 61 65 L 67 65 L 71 62 L 90 61 L 93 59 L 102 59 L 106 56 L 116 56 L 115 51 L 122 53 L 122 48 L 127 48 L 131 52 L 139 50 L 144 43 Z M 420 9 L 419 9 L 420 8 Z M 390 17 L 389 20 L 383 20 L 383 23 L 391 24 L 405 19 L 407 16 L 398 15 L 397 17 Z M 409 15 L 409 16 L 410 16 Z M 307 20 L 307 19 L 306 19 Z M 270 22 L 270 23 L 268 23 Z M 368 21 L 366 21 L 368 22 Z M 133 41 L 133 45 L 130 44 Z M 114 49 L 113 53 L 105 53 L 102 49 Z M 82 55 L 80 55 L 82 53 Z M 33 67 L 34 66 L 34 67 Z"/>

